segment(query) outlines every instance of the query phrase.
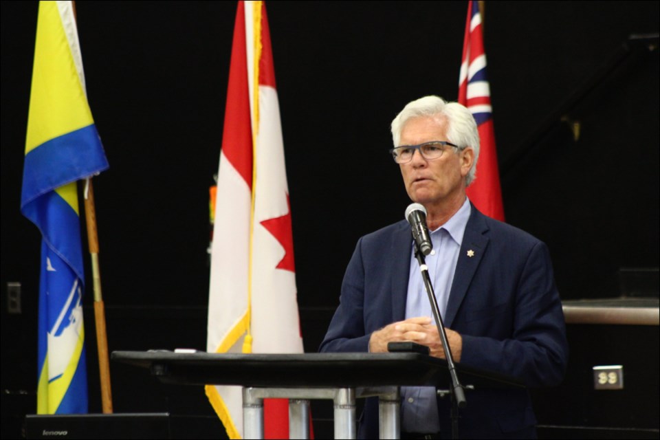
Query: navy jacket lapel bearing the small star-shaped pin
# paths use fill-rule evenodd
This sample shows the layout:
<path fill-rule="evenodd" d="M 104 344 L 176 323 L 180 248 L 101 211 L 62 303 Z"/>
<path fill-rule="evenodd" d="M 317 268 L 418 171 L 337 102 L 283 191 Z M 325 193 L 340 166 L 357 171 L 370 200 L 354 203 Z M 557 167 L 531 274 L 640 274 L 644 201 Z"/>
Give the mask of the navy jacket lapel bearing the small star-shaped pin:
<path fill-rule="evenodd" d="M 489 242 L 489 238 L 485 236 L 487 230 L 485 216 L 472 205 L 472 214 L 470 214 L 470 219 L 465 226 L 463 243 L 459 251 L 459 261 L 456 263 L 456 272 L 452 282 L 452 291 L 449 295 L 447 310 L 443 319 L 445 327 L 452 327 L 454 318 L 456 318 L 461 303 L 463 303 L 463 298 L 467 294 L 467 288 L 472 283 L 476 268 L 481 263 Z"/>

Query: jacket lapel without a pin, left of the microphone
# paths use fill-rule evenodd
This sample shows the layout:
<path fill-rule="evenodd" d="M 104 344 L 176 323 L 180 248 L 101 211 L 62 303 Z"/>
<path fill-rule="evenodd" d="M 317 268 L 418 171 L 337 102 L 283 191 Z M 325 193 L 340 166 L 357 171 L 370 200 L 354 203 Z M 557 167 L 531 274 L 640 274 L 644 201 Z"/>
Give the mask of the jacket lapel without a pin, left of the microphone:
<path fill-rule="evenodd" d="M 396 230 L 391 249 L 391 296 L 392 322 L 406 318 L 406 298 L 408 296 L 408 276 L 410 276 L 410 252 L 412 252 L 412 232 L 406 221 Z"/>

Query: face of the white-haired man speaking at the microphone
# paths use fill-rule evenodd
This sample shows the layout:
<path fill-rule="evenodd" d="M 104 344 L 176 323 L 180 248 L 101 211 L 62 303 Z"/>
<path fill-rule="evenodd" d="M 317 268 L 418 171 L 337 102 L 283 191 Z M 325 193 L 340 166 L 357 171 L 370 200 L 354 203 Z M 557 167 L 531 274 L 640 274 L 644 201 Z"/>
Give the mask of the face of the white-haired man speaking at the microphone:
<path fill-rule="evenodd" d="M 449 141 L 444 118 L 420 117 L 408 120 L 401 130 L 399 145 L 418 145 L 434 140 Z M 472 165 L 472 148 L 454 152 L 446 147 L 437 159 L 424 159 L 415 151 L 412 160 L 399 164 L 408 197 L 424 206 L 441 204 L 443 201 L 463 201 L 465 176 Z"/>

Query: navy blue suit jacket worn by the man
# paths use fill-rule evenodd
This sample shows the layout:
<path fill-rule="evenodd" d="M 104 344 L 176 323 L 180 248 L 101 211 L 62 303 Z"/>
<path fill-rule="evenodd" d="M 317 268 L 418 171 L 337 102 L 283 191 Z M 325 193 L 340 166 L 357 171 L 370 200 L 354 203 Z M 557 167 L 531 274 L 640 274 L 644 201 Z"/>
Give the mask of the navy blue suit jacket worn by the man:
<path fill-rule="evenodd" d="M 411 250 L 405 220 L 358 241 L 320 351 L 369 351 L 373 331 L 405 319 Z M 468 250 L 474 256 L 468 256 Z M 474 206 L 443 323 L 461 333 L 461 365 L 517 377 L 530 387 L 553 386 L 564 376 L 564 315 L 546 245 Z M 536 436 L 526 389 L 467 391 L 466 398 L 467 408 L 460 411 L 461 438 Z M 439 401 L 446 438 L 451 436 L 449 408 L 448 399 Z M 358 436 L 378 437 L 375 399 L 366 401 Z"/>

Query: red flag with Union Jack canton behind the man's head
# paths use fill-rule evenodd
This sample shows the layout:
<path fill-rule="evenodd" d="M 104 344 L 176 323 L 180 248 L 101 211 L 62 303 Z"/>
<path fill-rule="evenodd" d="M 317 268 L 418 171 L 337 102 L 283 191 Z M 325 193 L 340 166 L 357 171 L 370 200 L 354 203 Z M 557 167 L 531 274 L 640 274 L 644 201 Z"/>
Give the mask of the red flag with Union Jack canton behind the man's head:
<path fill-rule="evenodd" d="M 486 78 L 483 26 L 478 1 L 470 1 L 467 7 L 463 63 L 459 75 L 459 102 L 472 112 L 481 140 L 476 179 L 467 187 L 467 197 L 470 197 L 474 206 L 487 216 L 504 221 L 490 87 Z"/>

